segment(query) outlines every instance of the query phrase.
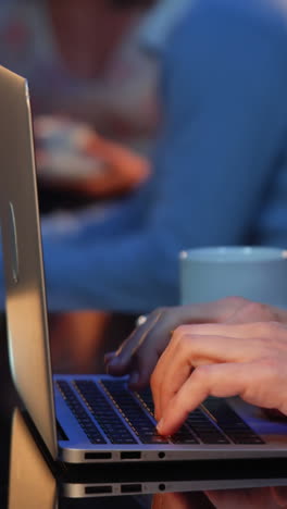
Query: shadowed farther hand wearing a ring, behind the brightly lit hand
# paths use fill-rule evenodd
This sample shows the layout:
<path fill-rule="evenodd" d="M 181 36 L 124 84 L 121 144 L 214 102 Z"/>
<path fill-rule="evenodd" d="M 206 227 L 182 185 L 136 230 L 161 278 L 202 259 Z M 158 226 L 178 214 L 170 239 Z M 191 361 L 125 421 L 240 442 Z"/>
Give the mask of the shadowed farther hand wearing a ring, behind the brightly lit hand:
<path fill-rule="evenodd" d="M 157 309 L 147 316 L 142 325 L 135 328 L 117 351 L 105 356 L 108 372 L 115 376 L 129 374 L 130 387 L 139 389 L 149 383 L 160 356 L 171 340 L 171 332 L 179 325 L 254 321 L 287 323 L 287 316 L 283 310 L 240 297 L 197 306 Z"/>

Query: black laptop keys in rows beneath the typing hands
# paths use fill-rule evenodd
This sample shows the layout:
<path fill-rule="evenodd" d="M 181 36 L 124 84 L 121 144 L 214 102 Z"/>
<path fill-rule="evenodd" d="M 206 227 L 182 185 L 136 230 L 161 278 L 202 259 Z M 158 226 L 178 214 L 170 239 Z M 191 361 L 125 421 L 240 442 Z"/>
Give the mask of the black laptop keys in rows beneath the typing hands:
<path fill-rule="evenodd" d="M 107 396 L 92 381 L 74 380 L 73 385 L 112 444 L 137 444 L 138 440 L 144 444 L 264 444 L 261 437 L 219 398 L 208 398 L 202 407 L 189 414 L 177 433 L 171 437 L 162 437 L 154 426 L 153 401 L 149 388 L 140 393 L 130 393 L 124 382 L 105 378 L 99 382 Z M 58 381 L 57 384 L 90 442 L 105 444 L 107 440 L 68 382 Z M 127 425 L 113 409 L 112 402 Z"/>

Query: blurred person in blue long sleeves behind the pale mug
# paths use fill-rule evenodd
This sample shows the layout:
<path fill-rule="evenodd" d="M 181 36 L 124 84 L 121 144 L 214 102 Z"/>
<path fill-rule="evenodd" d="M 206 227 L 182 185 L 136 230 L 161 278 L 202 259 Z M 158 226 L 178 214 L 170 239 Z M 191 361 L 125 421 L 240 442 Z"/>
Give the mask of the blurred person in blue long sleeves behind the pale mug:
<path fill-rule="evenodd" d="M 183 248 L 286 246 L 286 23 L 283 2 L 189 0 L 147 40 L 162 65 L 152 177 L 104 221 L 43 228 L 51 309 L 173 306 Z"/>

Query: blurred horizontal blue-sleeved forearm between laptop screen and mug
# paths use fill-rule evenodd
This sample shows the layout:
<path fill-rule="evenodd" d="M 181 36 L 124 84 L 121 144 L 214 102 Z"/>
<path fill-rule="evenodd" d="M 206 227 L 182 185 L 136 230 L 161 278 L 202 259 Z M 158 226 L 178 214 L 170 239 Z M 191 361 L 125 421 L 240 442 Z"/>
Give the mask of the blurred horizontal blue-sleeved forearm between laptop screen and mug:
<path fill-rule="evenodd" d="M 137 313 L 177 303 L 177 248 L 162 240 L 161 235 L 140 233 L 123 241 L 43 241 L 50 309 Z"/>

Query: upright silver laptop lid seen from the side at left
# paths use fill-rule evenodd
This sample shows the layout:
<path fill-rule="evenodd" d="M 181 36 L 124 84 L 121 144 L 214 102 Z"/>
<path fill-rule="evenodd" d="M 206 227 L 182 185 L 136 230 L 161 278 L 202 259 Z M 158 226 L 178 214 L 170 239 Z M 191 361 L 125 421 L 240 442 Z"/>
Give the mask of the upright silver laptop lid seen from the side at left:
<path fill-rule="evenodd" d="M 34 142 L 26 80 L 0 66 L 0 214 L 9 356 L 17 392 L 57 457 Z"/>

